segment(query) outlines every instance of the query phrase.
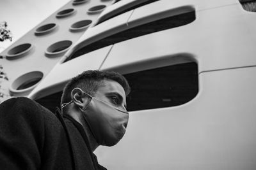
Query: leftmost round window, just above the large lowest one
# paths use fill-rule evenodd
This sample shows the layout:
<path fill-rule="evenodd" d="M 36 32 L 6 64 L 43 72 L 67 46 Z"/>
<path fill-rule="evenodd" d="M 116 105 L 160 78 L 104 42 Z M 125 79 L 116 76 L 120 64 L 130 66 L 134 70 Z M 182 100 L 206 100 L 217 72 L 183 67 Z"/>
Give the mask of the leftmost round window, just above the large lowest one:
<path fill-rule="evenodd" d="M 30 43 L 17 45 L 7 52 L 6 59 L 16 59 L 16 58 L 22 57 L 28 54 L 31 48 L 32 48 L 32 45 Z"/>

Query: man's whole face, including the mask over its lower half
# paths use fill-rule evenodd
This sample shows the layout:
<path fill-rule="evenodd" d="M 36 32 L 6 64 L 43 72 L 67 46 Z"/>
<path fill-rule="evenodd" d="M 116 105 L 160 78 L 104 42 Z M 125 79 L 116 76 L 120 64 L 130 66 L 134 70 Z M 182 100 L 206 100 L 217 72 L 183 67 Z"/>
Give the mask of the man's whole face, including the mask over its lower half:
<path fill-rule="evenodd" d="M 124 88 L 116 81 L 105 79 L 94 97 L 84 110 L 93 136 L 99 145 L 116 145 L 123 138 L 129 120 Z"/>

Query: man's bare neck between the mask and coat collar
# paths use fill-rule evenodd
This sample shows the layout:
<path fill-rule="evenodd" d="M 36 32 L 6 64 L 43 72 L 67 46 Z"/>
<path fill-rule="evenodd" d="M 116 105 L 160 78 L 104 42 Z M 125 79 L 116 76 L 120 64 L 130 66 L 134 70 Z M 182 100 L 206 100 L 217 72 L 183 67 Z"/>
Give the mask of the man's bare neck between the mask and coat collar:
<path fill-rule="evenodd" d="M 77 110 L 77 108 L 74 108 L 74 103 L 71 103 L 69 107 L 65 108 L 63 110 L 63 114 L 69 115 L 72 117 L 76 122 L 81 124 L 83 126 L 84 132 L 86 136 L 88 137 L 88 141 L 90 143 L 90 146 L 92 148 L 92 152 L 99 146 L 97 141 L 95 140 L 87 122 L 84 120 L 83 113 L 81 110 Z"/>

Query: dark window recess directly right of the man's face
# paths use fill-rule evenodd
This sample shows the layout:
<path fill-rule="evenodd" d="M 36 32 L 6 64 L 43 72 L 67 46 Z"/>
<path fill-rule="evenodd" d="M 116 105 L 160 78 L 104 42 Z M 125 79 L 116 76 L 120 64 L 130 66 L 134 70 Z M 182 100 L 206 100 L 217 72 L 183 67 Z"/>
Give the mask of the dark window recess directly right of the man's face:
<path fill-rule="evenodd" d="M 124 74 L 131 86 L 127 110 L 166 108 L 188 103 L 198 93 L 195 62 Z"/>

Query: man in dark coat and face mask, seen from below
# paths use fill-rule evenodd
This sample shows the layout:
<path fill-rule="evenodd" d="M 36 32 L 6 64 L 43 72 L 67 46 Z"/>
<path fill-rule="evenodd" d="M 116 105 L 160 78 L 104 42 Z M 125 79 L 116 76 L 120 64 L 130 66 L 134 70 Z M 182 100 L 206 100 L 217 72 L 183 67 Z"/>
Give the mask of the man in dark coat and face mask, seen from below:
<path fill-rule="evenodd" d="M 105 169 L 93 151 L 124 136 L 124 76 L 85 71 L 69 81 L 57 117 L 26 97 L 0 104 L 0 169 Z"/>

